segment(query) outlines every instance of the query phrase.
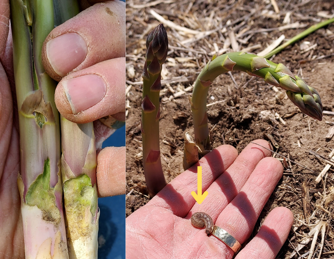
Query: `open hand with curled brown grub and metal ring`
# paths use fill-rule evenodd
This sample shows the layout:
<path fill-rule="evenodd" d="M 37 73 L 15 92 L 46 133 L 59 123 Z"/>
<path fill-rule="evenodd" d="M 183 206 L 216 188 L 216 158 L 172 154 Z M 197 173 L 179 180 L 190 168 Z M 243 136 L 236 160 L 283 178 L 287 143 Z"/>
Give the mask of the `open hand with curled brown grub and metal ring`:
<path fill-rule="evenodd" d="M 254 142 L 269 148 L 265 140 Z M 252 143 L 239 155 L 229 145 L 205 155 L 126 219 L 126 258 L 232 258 L 232 249 L 193 227 L 190 217 L 205 212 L 215 225 L 244 243 L 283 174 L 282 164 L 270 155 Z M 191 195 L 197 190 L 197 166 L 202 166 L 202 192 L 208 191 L 201 204 Z M 274 259 L 292 223 L 289 209 L 273 209 L 235 258 Z"/>

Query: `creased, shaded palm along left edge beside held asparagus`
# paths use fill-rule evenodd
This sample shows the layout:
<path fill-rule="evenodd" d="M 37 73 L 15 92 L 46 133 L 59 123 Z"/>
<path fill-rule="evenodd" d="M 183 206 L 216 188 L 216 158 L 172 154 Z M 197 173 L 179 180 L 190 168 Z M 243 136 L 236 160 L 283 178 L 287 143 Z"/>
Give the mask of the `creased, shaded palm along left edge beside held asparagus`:
<path fill-rule="evenodd" d="M 13 116 L 14 89 L 9 3 L 0 1 L 0 258 L 24 258 L 23 225 L 17 174 L 20 149 L 17 115 Z M 7 74 L 9 76 L 9 80 Z M 11 85 L 9 84 L 11 82 Z M 11 89 L 12 87 L 12 89 Z M 12 91 L 11 91 L 12 90 Z M 14 97 L 16 98 L 16 96 Z M 16 105 L 16 103 L 14 104 Z"/>

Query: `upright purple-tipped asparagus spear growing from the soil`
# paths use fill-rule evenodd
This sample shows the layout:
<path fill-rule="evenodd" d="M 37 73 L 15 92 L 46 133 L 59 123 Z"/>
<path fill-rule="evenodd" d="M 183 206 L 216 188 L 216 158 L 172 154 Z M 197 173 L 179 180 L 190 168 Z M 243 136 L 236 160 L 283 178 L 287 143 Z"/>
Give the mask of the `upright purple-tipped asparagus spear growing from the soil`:
<path fill-rule="evenodd" d="M 161 69 L 168 51 L 167 32 L 162 24 L 148 35 L 146 47 L 141 131 L 145 179 L 150 197 L 153 197 L 167 184 L 162 171 L 159 145 Z"/>

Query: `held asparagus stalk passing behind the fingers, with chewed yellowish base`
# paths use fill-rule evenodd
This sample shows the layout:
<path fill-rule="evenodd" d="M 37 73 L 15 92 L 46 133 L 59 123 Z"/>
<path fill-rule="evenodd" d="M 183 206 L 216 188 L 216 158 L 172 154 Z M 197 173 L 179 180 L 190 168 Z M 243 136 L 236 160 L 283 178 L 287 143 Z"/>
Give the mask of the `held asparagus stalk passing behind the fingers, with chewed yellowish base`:
<path fill-rule="evenodd" d="M 54 0 L 54 4 L 59 24 L 79 13 L 76 0 Z M 60 116 L 60 125 L 69 259 L 97 259 L 100 211 L 93 122 L 76 124 Z"/>

